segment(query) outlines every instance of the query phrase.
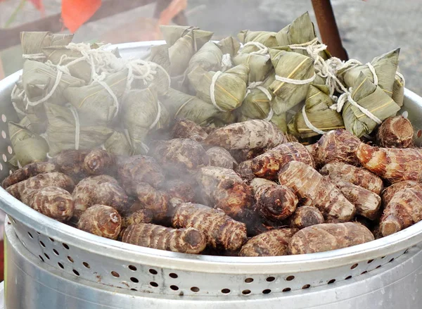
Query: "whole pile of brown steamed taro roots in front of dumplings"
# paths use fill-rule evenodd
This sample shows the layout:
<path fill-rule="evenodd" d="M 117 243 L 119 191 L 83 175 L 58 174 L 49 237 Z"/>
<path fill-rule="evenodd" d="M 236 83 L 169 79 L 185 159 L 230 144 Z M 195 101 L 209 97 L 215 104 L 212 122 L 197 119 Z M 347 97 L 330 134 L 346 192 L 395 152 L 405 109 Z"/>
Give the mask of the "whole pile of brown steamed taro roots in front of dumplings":
<path fill-rule="evenodd" d="M 63 151 L 2 185 L 86 232 L 180 253 L 329 251 L 422 219 L 422 151 L 402 116 L 366 142 L 335 130 L 304 146 L 264 120 L 214 130 L 177 120 L 166 136 L 146 156 Z"/>

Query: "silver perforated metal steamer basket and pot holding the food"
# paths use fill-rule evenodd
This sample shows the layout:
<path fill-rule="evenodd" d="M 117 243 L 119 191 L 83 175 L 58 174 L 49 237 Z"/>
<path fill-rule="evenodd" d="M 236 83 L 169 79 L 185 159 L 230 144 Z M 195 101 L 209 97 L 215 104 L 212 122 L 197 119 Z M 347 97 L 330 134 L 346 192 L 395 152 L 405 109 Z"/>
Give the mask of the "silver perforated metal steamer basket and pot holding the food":
<path fill-rule="evenodd" d="M 160 43 L 119 47 L 124 57 L 140 57 Z M 16 120 L 10 95 L 19 75 L 0 82 L 1 179 L 13 156 L 6 122 Z M 422 98 L 408 90 L 405 95 L 403 111 L 419 132 Z M 96 237 L 37 213 L 3 189 L 0 208 L 8 214 L 7 309 L 422 307 L 422 223 L 337 251 L 238 258 Z"/>

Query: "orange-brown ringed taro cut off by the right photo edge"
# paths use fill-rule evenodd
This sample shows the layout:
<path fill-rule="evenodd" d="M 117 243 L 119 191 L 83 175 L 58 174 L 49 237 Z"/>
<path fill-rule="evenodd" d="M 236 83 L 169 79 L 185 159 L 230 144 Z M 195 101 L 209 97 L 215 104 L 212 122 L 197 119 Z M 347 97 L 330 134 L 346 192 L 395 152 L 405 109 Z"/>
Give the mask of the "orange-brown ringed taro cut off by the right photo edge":
<path fill-rule="evenodd" d="M 357 149 L 360 163 L 391 183 L 422 180 L 422 150 L 416 148 L 378 148 L 361 143 Z"/>

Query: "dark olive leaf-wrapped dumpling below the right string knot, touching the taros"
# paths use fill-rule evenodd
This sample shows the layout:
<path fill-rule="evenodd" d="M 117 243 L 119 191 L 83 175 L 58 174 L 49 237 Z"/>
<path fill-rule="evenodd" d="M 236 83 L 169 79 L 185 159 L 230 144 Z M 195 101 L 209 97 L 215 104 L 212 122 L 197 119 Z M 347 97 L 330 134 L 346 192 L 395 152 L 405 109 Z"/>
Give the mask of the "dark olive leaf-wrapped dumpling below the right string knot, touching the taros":
<path fill-rule="evenodd" d="M 329 93 L 330 90 L 325 84 L 311 84 L 305 100 L 307 119 L 314 127 L 325 132 L 345 127 L 340 113 L 330 108 L 335 102 Z M 296 113 L 292 118 L 288 130 L 291 134 L 302 138 L 319 135 L 307 126 L 303 111 Z"/>

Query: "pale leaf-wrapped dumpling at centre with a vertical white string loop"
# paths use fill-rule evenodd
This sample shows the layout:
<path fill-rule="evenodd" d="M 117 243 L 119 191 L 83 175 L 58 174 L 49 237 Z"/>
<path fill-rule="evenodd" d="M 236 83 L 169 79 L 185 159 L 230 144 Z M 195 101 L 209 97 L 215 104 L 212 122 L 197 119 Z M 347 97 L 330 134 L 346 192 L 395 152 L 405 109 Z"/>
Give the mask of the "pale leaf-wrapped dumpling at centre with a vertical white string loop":
<path fill-rule="evenodd" d="M 242 105 L 245 98 L 249 68 L 236 65 L 225 72 L 206 72 L 196 68 L 188 78 L 198 98 L 213 104 L 219 111 L 233 111 Z"/>

